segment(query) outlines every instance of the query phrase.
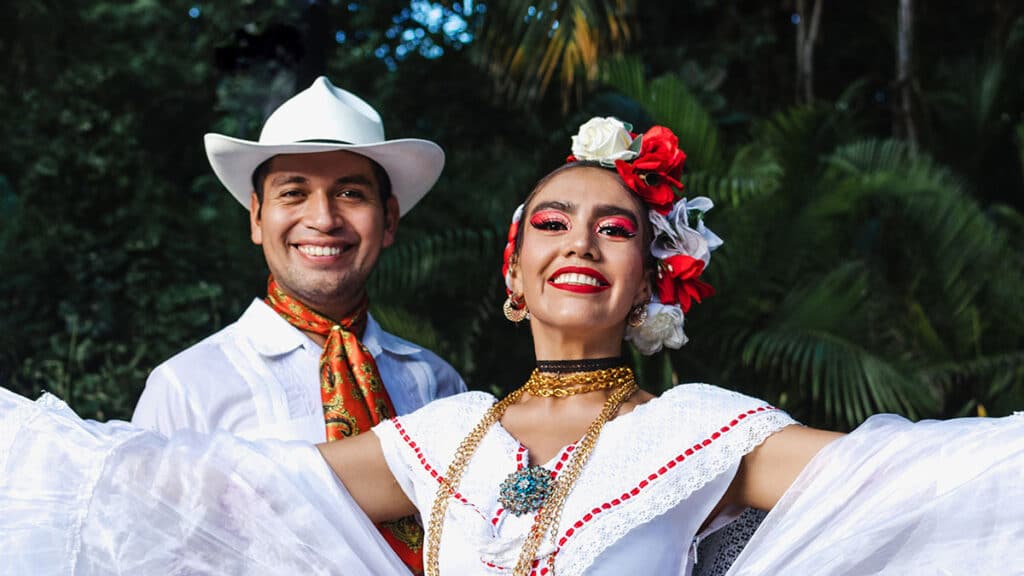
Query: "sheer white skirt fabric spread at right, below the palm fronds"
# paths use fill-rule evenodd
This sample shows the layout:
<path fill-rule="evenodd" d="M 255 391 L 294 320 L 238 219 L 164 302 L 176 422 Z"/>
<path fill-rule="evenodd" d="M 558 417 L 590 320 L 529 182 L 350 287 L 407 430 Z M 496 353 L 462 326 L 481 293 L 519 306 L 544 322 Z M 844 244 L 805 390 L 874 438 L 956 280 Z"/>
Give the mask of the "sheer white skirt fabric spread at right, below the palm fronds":
<path fill-rule="evenodd" d="M 1024 573 L 1024 417 L 873 416 L 815 456 L 730 575 Z"/>

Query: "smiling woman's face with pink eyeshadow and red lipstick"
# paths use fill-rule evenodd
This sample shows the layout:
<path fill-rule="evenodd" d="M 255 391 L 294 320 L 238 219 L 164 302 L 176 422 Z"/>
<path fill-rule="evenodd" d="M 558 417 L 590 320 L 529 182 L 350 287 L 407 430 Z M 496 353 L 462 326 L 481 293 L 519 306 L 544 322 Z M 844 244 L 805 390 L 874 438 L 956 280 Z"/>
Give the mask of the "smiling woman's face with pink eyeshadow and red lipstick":
<path fill-rule="evenodd" d="M 630 308 L 650 299 L 645 212 L 618 176 L 595 167 L 556 174 L 522 216 L 512 271 L 535 330 L 625 330 Z"/>

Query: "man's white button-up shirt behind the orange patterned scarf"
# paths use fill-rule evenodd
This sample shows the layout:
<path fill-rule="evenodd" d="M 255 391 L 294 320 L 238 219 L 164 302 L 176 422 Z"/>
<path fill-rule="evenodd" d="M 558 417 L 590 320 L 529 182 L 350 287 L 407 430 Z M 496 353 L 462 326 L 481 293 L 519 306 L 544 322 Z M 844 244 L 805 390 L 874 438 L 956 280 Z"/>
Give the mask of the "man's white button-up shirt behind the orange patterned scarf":
<path fill-rule="evenodd" d="M 376 360 L 397 414 L 466 390 L 446 362 L 385 332 L 372 316 L 360 341 Z M 165 435 L 225 429 L 251 439 L 324 442 L 322 353 L 256 299 L 238 322 L 158 366 L 132 423 Z"/>

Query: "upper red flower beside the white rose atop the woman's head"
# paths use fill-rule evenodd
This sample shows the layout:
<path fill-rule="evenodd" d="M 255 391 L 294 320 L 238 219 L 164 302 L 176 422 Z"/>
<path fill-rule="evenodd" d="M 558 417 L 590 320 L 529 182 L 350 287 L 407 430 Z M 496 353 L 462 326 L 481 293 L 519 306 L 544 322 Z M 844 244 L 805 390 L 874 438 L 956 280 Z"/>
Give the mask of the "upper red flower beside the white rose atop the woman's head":
<path fill-rule="evenodd" d="M 647 130 L 640 140 L 640 154 L 632 162 L 618 160 L 615 169 L 631 190 L 659 214 L 672 211 L 676 190 L 682 190 L 686 154 L 679 150 L 679 138 L 664 126 Z"/>

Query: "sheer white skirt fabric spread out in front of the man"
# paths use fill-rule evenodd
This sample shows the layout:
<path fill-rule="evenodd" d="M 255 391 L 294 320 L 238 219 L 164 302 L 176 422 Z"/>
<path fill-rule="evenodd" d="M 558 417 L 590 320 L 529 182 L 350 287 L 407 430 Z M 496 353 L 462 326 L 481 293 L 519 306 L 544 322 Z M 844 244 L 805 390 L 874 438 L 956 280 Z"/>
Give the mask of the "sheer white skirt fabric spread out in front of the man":
<path fill-rule="evenodd" d="M 0 389 L 0 572 L 409 572 L 316 449 L 167 439 Z"/>

